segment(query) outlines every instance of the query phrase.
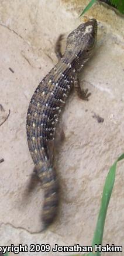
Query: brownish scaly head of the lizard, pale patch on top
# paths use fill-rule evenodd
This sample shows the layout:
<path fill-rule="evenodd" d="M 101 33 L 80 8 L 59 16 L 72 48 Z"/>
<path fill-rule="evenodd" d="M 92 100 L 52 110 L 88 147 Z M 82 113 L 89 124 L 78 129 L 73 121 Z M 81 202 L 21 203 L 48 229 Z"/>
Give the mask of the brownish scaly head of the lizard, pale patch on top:
<path fill-rule="evenodd" d="M 80 61 L 84 64 L 94 51 L 97 41 L 97 21 L 89 19 L 89 21 L 78 26 L 67 37 L 66 52 L 68 58 L 80 57 Z"/>

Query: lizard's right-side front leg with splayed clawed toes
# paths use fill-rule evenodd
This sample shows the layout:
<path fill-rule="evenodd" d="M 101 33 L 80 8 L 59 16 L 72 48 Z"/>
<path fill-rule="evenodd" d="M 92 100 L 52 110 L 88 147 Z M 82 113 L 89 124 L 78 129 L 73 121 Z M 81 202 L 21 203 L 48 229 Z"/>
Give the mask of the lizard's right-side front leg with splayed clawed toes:
<path fill-rule="evenodd" d="M 74 78 L 74 88 L 80 99 L 84 99 L 85 101 L 88 101 L 88 97 L 91 95 L 91 93 L 90 92 L 88 93 L 88 89 L 85 89 L 85 90 L 81 89 L 80 81 L 77 75 L 75 75 L 75 78 Z"/>

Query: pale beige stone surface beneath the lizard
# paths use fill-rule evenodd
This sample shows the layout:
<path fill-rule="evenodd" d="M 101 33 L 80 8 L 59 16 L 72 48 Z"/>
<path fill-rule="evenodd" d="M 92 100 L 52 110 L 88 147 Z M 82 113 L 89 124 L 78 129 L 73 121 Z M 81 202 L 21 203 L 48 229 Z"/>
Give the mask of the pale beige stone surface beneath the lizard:
<path fill-rule="evenodd" d="M 83 21 L 78 16 L 87 3 L 1 0 L 0 104 L 5 111 L 0 111 L 0 121 L 9 109 L 11 114 L 0 127 L 0 159 L 5 160 L 0 164 L 0 245 L 91 245 L 105 177 L 124 151 L 124 19 L 102 5 L 94 5 L 87 12 L 99 22 L 95 55 L 81 73 L 81 84 L 92 95 L 89 102 L 83 102 L 71 94 L 61 117 L 66 139 L 57 155 L 60 211 L 48 230 L 40 232 L 43 190 L 37 185 L 29 197 L 26 195 L 33 170 L 26 141 L 27 107 L 40 80 L 56 64 L 57 36 L 68 34 Z M 98 123 L 94 113 L 104 122 Z M 104 244 L 124 245 L 123 168 L 120 162 Z M 66 253 L 39 252 L 48 254 Z"/>

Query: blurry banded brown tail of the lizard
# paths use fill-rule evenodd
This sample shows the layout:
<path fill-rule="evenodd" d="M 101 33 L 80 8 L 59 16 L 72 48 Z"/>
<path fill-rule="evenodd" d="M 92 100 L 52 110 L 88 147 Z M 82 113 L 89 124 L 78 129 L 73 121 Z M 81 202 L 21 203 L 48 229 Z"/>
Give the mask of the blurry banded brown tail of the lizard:
<path fill-rule="evenodd" d="M 56 171 L 53 167 L 48 168 L 47 162 L 46 166 L 35 165 L 35 173 L 42 182 L 42 187 L 44 189 L 44 203 L 42 210 L 42 221 L 44 229 L 53 222 L 57 215 L 58 210 L 58 179 Z M 47 167 L 47 168 L 46 168 Z"/>

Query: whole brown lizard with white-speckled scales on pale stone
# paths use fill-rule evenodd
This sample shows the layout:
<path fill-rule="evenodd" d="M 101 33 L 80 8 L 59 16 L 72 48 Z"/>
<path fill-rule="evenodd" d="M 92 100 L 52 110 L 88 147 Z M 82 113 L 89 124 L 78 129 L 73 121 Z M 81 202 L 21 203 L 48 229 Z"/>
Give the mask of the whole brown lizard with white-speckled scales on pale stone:
<path fill-rule="evenodd" d="M 56 127 L 61 110 L 75 87 L 78 97 L 88 100 L 88 89 L 80 87 L 78 74 L 85 62 L 92 56 L 97 41 L 97 21 L 80 24 L 67 37 L 64 54 L 60 51 L 60 41 L 56 44 L 58 62 L 36 88 L 29 104 L 26 119 L 27 142 L 35 168 L 44 189 L 42 211 L 43 227 L 53 222 L 57 215 L 59 185 L 54 168 L 53 147 Z"/>

